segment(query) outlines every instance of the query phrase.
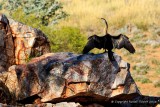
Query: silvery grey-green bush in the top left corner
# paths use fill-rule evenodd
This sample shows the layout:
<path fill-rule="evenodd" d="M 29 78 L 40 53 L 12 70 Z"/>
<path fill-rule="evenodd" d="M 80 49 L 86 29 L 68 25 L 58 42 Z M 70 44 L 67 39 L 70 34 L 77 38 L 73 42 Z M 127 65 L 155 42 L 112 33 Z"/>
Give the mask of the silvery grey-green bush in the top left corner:
<path fill-rule="evenodd" d="M 61 3 L 56 0 L 3 0 L 0 7 L 9 11 L 10 15 L 21 9 L 26 16 L 36 16 L 32 21 L 38 19 L 44 26 L 55 24 L 67 16 Z"/>

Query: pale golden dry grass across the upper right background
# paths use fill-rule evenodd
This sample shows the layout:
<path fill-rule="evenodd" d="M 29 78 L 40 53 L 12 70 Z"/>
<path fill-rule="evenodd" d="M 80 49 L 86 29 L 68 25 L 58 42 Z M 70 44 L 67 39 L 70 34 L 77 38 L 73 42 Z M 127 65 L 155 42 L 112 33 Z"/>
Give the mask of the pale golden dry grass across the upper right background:
<path fill-rule="evenodd" d="M 99 18 L 108 20 L 109 26 L 121 27 L 134 23 L 146 26 L 160 24 L 159 0 L 60 0 L 69 17 L 59 26 L 75 26 L 84 31 L 102 32 L 104 24 Z M 128 1 L 128 2 L 127 2 Z"/>

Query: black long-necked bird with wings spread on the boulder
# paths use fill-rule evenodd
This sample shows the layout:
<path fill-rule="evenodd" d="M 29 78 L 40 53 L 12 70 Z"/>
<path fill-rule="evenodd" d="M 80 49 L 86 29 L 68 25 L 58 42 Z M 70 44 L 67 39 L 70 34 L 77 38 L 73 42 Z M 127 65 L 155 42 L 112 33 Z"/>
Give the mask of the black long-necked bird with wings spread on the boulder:
<path fill-rule="evenodd" d="M 105 20 L 105 19 L 104 19 Z M 90 50 L 93 48 L 98 48 L 98 49 L 106 49 L 108 50 L 108 56 L 110 60 L 114 60 L 113 58 L 113 48 L 121 49 L 125 48 L 127 49 L 130 53 L 135 53 L 135 49 L 131 42 L 129 41 L 129 38 L 123 34 L 120 34 L 118 36 L 112 36 L 107 33 L 108 30 L 108 24 L 107 21 L 105 20 L 106 23 L 106 34 L 102 37 L 93 35 L 88 38 L 88 42 L 86 46 L 83 49 L 83 54 L 88 53 Z"/>

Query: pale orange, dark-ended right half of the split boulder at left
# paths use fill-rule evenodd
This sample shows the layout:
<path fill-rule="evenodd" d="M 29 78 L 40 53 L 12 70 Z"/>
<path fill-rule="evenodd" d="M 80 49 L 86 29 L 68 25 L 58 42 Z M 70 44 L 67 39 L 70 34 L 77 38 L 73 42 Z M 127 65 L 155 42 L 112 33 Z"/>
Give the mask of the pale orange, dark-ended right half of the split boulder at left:
<path fill-rule="evenodd" d="M 30 57 L 50 52 L 50 44 L 46 35 L 35 28 L 9 19 L 15 45 L 16 64 L 25 64 Z"/>

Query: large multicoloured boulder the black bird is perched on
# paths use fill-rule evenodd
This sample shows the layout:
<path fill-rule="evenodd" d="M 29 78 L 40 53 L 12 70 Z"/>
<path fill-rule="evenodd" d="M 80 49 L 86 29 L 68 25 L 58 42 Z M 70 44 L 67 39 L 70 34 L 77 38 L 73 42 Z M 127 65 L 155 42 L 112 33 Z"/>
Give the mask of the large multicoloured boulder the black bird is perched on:
<path fill-rule="evenodd" d="M 36 99 L 43 103 L 105 103 L 118 95 L 133 99 L 140 92 L 130 75 L 129 64 L 116 54 L 114 57 L 116 61 L 110 62 L 107 53 L 51 53 L 26 65 L 10 67 L 0 79 L 21 103 L 33 103 Z"/>

